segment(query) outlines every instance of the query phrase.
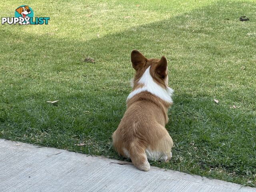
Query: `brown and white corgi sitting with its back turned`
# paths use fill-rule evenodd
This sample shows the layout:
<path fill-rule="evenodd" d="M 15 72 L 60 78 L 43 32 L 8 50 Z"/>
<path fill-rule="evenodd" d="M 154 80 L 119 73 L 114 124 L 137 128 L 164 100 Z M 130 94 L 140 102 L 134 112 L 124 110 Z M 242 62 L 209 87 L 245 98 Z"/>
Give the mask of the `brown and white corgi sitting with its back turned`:
<path fill-rule="evenodd" d="M 165 125 L 172 104 L 168 86 L 167 60 L 147 59 L 137 50 L 131 53 L 136 70 L 126 112 L 112 135 L 114 149 L 130 158 L 143 171 L 150 169 L 147 159 L 168 162 L 172 157 L 172 138 Z"/>

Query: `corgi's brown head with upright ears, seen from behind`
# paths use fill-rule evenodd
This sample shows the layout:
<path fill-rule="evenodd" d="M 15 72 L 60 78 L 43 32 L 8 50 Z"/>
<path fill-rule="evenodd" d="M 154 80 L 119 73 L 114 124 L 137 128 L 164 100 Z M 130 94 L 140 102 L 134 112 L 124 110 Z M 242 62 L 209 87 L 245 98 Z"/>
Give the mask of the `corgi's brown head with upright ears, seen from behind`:
<path fill-rule="evenodd" d="M 168 88 L 167 60 L 164 56 L 161 59 L 147 59 L 142 53 L 133 50 L 131 53 L 132 67 L 136 70 L 131 84 L 134 89 L 140 87 L 139 80 L 149 68 L 150 76 L 162 88 Z"/>

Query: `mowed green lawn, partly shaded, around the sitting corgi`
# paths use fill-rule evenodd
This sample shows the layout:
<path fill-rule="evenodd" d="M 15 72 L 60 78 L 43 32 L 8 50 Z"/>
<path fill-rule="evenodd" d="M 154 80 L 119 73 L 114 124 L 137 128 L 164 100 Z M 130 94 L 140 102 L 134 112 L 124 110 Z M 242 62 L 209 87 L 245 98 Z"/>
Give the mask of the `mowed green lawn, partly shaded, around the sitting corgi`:
<path fill-rule="evenodd" d="M 175 90 L 173 158 L 151 165 L 256 185 L 255 1 L 26 3 L 50 21 L 0 26 L 0 138 L 121 159 L 111 135 L 138 49 L 166 56 Z M 2 3 L 1 16 L 18 6 Z"/>

